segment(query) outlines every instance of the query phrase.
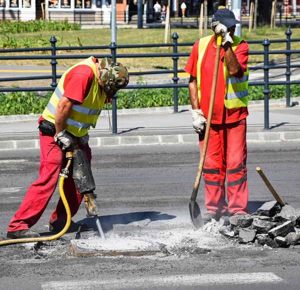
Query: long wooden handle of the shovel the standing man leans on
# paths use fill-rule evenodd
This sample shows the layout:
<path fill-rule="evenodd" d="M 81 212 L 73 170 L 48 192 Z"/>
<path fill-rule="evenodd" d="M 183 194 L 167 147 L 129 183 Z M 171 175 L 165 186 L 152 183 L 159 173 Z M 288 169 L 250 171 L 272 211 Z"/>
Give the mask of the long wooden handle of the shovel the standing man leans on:
<path fill-rule="evenodd" d="M 201 178 L 205 155 L 206 155 L 206 150 L 207 150 L 209 130 L 210 130 L 211 119 L 212 119 L 212 110 L 213 110 L 213 104 L 214 104 L 214 95 L 215 95 L 215 89 L 216 89 L 221 43 L 222 43 L 222 36 L 219 34 L 216 38 L 216 53 L 215 53 L 215 60 L 214 60 L 213 79 L 212 79 L 211 94 L 210 94 L 210 101 L 209 101 L 209 108 L 208 108 L 208 116 L 207 116 L 207 120 L 206 120 L 204 142 L 203 142 L 203 147 L 202 147 L 202 151 L 201 151 L 201 158 L 200 158 L 200 162 L 199 162 L 197 176 L 196 176 L 195 184 L 194 184 L 191 198 L 190 198 L 191 201 L 195 201 L 196 197 L 197 197 L 198 188 L 199 188 L 199 184 L 200 184 L 200 178 Z"/>

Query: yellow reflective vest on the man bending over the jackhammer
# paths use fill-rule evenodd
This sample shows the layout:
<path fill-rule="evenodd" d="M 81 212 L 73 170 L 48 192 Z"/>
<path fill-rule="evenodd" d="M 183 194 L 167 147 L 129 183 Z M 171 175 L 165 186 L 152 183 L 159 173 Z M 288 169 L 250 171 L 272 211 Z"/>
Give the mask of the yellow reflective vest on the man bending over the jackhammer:
<path fill-rule="evenodd" d="M 83 100 L 83 103 L 81 105 L 72 105 L 72 109 L 65 124 L 65 130 L 77 137 L 85 135 L 90 126 L 92 128 L 95 127 L 106 99 L 106 95 L 103 90 L 100 94 L 100 87 L 96 77 L 96 68 L 94 62 L 92 61 L 93 58 L 94 57 L 91 56 L 83 61 L 80 61 L 63 73 L 55 91 L 53 92 L 46 108 L 42 113 L 42 116 L 45 120 L 48 120 L 49 122 L 55 124 L 55 110 L 58 101 L 61 99 L 64 93 L 63 81 L 66 74 L 77 65 L 84 64 L 90 66 L 93 70 L 94 78 L 88 95 Z"/>

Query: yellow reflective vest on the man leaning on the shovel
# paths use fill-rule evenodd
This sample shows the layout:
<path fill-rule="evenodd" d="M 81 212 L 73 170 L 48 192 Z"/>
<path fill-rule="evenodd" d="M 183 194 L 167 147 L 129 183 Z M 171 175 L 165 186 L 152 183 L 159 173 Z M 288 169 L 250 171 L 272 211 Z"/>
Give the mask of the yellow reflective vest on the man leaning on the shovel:
<path fill-rule="evenodd" d="M 197 61 L 197 89 L 198 89 L 198 100 L 201 98 L 201 61 L 203 59 L 206 47 L 214 35 L 209 35 L 200 38 L 199 50 L 198 50 L 198 61 Z M 233 36 L 233 43 L 231 44 L 232 51 L 235 50 L 236 46 L 242 41 L 241 38 Z M 230 75 L 226 66 L 224 57 L 224 79 L 225 79 L 225 96 L 224 105 L 227 109 L 246 107 L 248 105 L 248 77 L 249 69 L 246 67 L 246 71 L 243 77 L 235 77 Z"/>

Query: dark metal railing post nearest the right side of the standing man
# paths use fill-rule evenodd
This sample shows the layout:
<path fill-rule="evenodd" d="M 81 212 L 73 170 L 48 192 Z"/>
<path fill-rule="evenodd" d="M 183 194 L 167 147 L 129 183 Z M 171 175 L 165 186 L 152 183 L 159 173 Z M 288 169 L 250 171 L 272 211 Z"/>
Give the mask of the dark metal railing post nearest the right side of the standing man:
<path fill-rule="evenodd" d="M 268 65 L 268 47 L 270 45 L 270 41 L 267 38 L 264 38 L 262 41 L 264 56 L 263 56 L 263 74 L 264 74 L 264 130 L 269 130 L 269 107 L 268 107 L 268 99 L 269 99 L 269 65 Z"/>

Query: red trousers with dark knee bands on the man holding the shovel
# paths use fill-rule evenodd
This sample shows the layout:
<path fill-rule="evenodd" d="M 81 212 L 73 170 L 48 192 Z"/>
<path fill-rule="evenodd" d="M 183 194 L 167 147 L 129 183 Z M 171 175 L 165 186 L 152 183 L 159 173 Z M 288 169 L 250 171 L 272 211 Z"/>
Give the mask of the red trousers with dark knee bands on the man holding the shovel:
<path fill-rule="evenodd" d="M 200 150 L 204 135 L 199 135 Z M 203 166 L 207 212 L 247 214 L 246 119 L 229 124 L 211 124 Z M 227 173 L 227 201 L 225 178 Z"/>

